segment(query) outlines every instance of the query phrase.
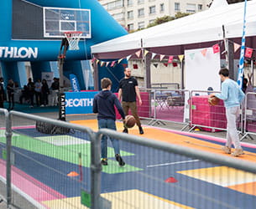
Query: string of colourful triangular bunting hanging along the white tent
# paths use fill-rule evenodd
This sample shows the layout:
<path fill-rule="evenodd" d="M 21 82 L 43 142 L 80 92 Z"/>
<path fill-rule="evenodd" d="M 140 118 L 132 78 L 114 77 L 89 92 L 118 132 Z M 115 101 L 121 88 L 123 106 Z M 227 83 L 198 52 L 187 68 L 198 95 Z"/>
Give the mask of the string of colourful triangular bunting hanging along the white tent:
<path fill-rule="evenodd" d="M 238 44 L 238 43 L 234 43 L 230 40 L 228 40 L 228 42 L 233 43 L 234 53 L 236 53 L 238 51 L 238 49 L 241 47 L 241 45 Z M 222 42 L 220 42 L 220 43 L 222 43 Z M 217 54 L 217 53 L 221 52 L 220 43 L 216 43 L 212 46 L 213 54 Z M 208 53 L 208 50 L 209 50 L 209 48 L 202 48 L 201 49 L 201 55 L 203 57 L 206 57 L 206 54 Z M 256 48 L 245 48 L 244 57 L 252 58 L 254 50 L 256 50 Z M 222 52 L 222 54 L 225 53 L 225 52 L 226 51 Z M 91 59 L 91 63 L 96 62 L 96 64 L 100 64 L 101 67 L 104 66 L 104 65 L 106 67 L 114 67 L 116 64 L 120 64 L 123 59 L 127 59 L 127 61 L 128 61 L 132 56 L 135 56 L 135 55 L 138 59 L 144 59 L 144 57 L 146 57 L 146 55 L 149 54 L 149 53 L 151 54 L 151 60 L 155 59 L 155 57 L 159 57 L 159 62 L 162 62 L 163 59 L 166 59 L 167 63 L 163 63 L 166 67 L 168 66 L 168 64 L 173 64 L 174 67 L 178 66 L 178 64 L 175 62 L 175 57 L 178 57 L 178 59 L 180 60 L 180 63 L 182 62 L 182 60 L 185 57 L 184 54 L 180 54 L 180 55 L 157 54 L 157 53 L 151 52 L 147 49 L 141 48 L 137 52 L 135 52 L 134 54 L 129 54 L 128 56 L 126 56 L 124 58 L 113 60 L 113 61 L 102 61 L 102 60 L 97 59 L 97 58 L 94 57 L 93 59 Z M 194 59 L 195 55 L 196 55 L 195 52 L 189 54 L 191 59 Z M 138 69 L 138 65 L 137 65 L 137 68 L 136 68 L 136 65 L 137 64 L 133 64 L 133 69 Z M 157 68 L 158 64 L 154 64 L 154 67 Z"/>

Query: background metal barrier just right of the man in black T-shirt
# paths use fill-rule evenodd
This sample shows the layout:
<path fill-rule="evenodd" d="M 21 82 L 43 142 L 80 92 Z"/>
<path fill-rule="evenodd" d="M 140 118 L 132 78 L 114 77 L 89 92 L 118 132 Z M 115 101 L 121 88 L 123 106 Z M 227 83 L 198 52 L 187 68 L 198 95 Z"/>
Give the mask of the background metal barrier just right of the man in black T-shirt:
<path fill-rule="evenodd" d="M 148 119 L 149 125 L 173 122 L 182 125 L 189 124 L 189 115 L 185 120 L 185 99 L 190 98 L 190 92 L 182 89 L 141 89 L 147 93 L 147 99 L 138 106 L 141 118 Z M 189 109 L 188 109 L 189 110 Z"/>

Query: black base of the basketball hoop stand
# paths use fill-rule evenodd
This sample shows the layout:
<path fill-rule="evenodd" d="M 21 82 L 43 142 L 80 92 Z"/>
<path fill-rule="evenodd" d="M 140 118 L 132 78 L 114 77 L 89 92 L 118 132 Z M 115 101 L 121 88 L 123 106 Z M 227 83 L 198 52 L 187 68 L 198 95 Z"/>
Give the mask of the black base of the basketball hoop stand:
<path fill-rule="evenodd" d="M 36 121 L 35 124 L 36 130 L 40 133 L 48 134 L 48 135 L 65 135 L 71 132 L 70 128 L 61 127 L 58 125 L 53 125 L 41 121 Z"/>

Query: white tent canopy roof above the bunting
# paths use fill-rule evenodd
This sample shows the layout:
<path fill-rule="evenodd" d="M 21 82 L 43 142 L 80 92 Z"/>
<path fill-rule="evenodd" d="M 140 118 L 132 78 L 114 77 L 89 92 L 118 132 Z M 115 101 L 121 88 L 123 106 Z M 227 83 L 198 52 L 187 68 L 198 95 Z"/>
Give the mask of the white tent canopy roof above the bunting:
<path fill-rule="evenodd" d="M 222 40 L 222 25 L 225 28 L 226 38 L 240 38 L 243 33 L 244 3 L 228 5 L 226 2 L 222 7 L 217 7 L 217 3 L 214 3 L 206 11 L 93 45 L 91 46 L 91 53 L 120 52 L 118 54 L 120 57 L 122 56 L 121 52 L 131 49 Z M 256 0 L 248 2 L 246 21 L 246 36 L 256 36 Z"/>

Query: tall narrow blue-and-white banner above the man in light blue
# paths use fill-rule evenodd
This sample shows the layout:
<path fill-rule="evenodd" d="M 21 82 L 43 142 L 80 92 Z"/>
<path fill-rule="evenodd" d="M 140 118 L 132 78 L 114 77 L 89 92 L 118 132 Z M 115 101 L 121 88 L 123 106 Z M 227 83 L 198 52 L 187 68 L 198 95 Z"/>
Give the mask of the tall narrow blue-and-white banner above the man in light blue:
<path fill-rule="evenodd" d="M 242 88 L 242 84 L 243 84 L 243 61 L 244 61 L 244 49 L 245 49 L 246 6 L 247 6 L 247 0 L 244 1 L 243 36 L 242 36 L 239 69 L 238 69 L 238 85 L 240 88 Z"/>

